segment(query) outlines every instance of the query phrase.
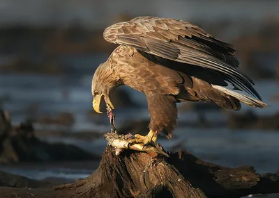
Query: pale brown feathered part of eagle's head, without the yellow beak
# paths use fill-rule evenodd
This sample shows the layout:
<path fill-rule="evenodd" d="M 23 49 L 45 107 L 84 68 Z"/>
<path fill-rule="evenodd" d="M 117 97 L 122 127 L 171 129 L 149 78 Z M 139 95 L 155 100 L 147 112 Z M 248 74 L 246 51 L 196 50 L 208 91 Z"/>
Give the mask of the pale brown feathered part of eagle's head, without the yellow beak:
<path fill-rule="evenodd" d="M 108 95 L 113 88 L 119 85 L 121 85 L 121 81 L 116 74 L 115 67 L 109 61 L 106 61 L 96 69 L 92 79 L 91 91 L 92 94 L 99 92 Z"/>

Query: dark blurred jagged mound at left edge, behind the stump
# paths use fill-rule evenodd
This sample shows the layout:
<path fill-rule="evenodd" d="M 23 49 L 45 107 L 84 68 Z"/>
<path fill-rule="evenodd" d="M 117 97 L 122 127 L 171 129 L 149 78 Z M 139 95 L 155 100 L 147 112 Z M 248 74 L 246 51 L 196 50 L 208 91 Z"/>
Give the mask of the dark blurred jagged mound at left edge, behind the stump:
<path fill-rule="evenodd" d="M 39 140 L 34 134 L 31 122 L 26 121 L 19 126 L 12 126 L 8 113 L 3 110 L 0 112 L 0 145 L 0 164 L 100 160 L 100 156 L 73 145 L 50 144 Z"/>

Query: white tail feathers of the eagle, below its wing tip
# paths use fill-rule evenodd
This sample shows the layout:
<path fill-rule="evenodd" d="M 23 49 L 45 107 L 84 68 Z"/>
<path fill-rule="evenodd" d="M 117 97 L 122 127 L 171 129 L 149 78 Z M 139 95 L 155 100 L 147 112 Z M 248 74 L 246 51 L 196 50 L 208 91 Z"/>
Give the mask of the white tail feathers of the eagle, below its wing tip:
<path fill-rule="evenodd" d="M 235 97 L 239 101 L 243 102 L 243 104 L 246 104 L 248 106 L 259 107 L 259 108 L 266 108 L 268 106 L 267 104 L 265 104 L 262 101 L 259 101 L 257 99 L 253 99 L 252 97 L 248 97 L 244 94 L 239 94 L 238 92 L 234 92 L 232 90 L 228 90 L 228 89 L 226 89 L 222 86 L 212 85 L 212 87 L 216 90 L 219 90 L 220 92 L 223 92 L 223 93 L 228 94 L 232 97 Z"/>

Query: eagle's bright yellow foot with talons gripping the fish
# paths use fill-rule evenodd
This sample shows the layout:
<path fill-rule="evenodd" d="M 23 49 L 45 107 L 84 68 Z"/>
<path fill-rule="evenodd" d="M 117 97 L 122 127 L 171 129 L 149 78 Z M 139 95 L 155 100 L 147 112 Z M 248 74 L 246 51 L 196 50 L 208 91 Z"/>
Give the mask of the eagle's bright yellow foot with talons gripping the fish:
<path fill-rule="evenodd" d="M 134 138 L 129 140 L 129 145 L 135 145 L 140 144 L 142 145 L 142 148 L 144 148 L 146 145 L 156 145 L 158 133 L 156 131 L 150 130 L 147 135 L 140 135 L 135 134 Z"/>

